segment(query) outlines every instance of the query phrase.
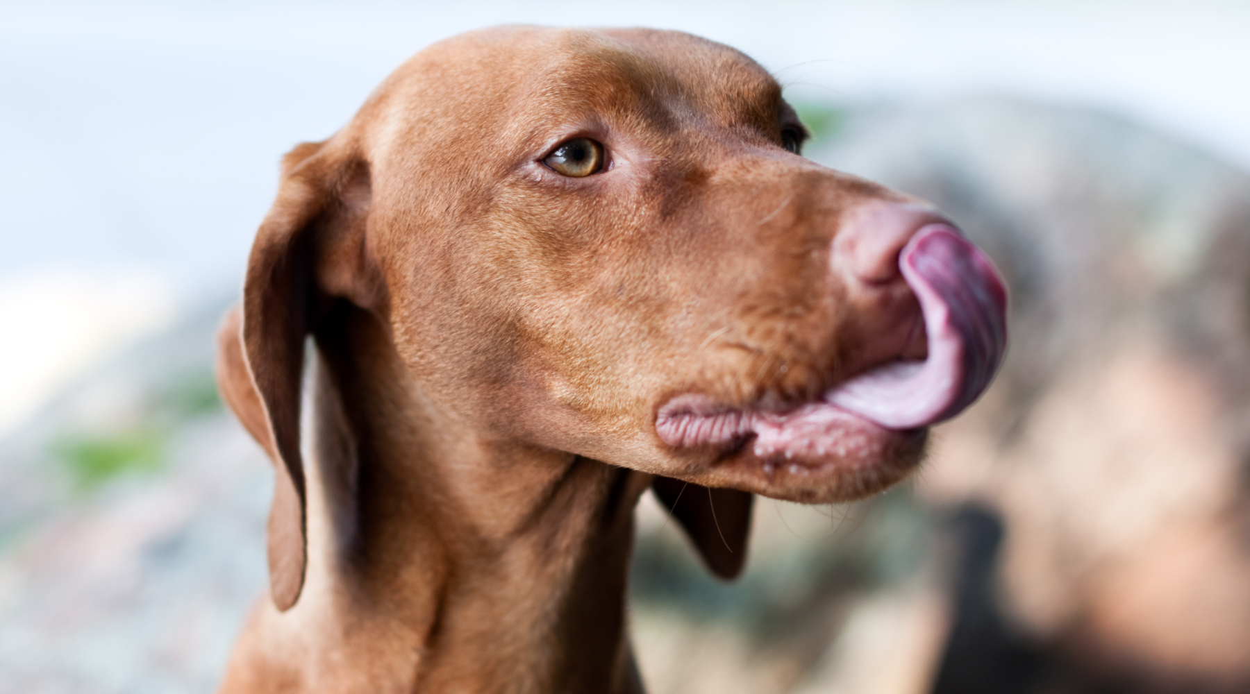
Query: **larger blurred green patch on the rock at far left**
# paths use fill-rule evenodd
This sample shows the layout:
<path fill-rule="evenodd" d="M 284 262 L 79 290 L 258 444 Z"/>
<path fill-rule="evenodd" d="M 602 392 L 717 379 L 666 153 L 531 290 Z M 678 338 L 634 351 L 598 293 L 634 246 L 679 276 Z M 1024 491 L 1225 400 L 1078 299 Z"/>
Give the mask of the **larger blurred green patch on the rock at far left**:
<path fill-rule="evenodd" d="M 79 492 L 91 492 L 118 477 L 151 473 L 165 462 L 165 436 L 149 428 L 102 436 L 70 434 L 52 443 Z"/>

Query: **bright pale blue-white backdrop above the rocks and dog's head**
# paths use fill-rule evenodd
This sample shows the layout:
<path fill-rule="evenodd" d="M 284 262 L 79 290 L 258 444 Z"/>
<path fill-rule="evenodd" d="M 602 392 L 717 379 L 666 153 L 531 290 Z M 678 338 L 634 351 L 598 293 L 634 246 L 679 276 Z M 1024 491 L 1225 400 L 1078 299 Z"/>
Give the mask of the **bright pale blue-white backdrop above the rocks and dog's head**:
<path fill-rule="evenodd" d="M 284 151 L 508 22 L 692 31 L 808 101 L 1089 105 L 1250 167 L 1245 1 L 0 2 L 0 434 L 231 291 Z"/>

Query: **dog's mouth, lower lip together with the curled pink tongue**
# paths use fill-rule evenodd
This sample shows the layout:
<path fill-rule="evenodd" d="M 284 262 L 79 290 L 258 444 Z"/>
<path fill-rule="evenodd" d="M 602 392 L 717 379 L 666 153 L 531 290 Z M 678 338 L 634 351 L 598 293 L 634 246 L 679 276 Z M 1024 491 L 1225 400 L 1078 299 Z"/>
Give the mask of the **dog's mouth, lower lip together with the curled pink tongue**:
<path fill-rule="evenodd" d="M 656 433 L 674 447 L 748 448 L 770 476 L 862 469 L 922 442 L 926 427 L 959 414 L 994 378 L 1006 352 L 1006 290 L 980 250 L 941 223 L 911 238 L 899 267 L 924 313 L 925 361 L 880 366 L 789 409 L 681 394 L 660 408 Z"/>

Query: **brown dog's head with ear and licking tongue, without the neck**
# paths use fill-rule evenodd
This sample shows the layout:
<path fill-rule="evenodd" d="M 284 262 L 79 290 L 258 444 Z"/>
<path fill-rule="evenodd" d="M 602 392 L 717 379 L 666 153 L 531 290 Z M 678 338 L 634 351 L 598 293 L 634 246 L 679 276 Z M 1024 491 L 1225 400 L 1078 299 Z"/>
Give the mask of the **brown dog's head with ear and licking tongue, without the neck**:
<path fill-rule="evenodd" d="M 491 436 L 809 503 L 906 476 L 992 377 L 1005 292 L 936 211 L 805 137 L 726 46 L 508 27 L 421 51 L 288 155 L 248 271 L 250 377 L 222 378 L 280 463 L 271 569 L 304 562 L 300 377 L 330 300 Z"/>

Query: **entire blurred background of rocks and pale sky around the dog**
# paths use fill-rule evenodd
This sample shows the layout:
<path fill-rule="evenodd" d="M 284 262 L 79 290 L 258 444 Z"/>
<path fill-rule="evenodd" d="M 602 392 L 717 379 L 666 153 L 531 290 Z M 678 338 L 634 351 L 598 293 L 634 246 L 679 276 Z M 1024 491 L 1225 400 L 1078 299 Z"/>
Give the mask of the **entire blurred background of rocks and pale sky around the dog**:
<path fill-rule="evenodd" d="M 1250 2 L 1161 0 L 0 1 L 0 689 L 214 689 L 271 479 L 212 333 L 279 157 L 506 22 L 744 50 L 1011 285 L 910 482 L 761 499 L 732 584 L 644 499 L 651 692 L 1250 692 Z"/>

